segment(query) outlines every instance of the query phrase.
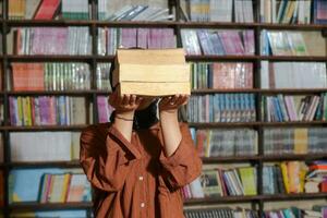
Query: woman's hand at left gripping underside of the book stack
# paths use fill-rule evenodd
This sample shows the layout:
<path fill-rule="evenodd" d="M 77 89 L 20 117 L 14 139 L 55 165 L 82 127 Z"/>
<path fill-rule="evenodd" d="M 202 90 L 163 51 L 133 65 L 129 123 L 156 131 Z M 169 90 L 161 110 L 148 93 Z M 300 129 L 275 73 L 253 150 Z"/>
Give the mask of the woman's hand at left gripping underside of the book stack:
<path fill-rule="evenodd" d="M 136 95 L 120 96 L 118 89 L 109 96 L 109 104 L 116 109 L 117 112 L 134 112 L 143 98 Z"/>

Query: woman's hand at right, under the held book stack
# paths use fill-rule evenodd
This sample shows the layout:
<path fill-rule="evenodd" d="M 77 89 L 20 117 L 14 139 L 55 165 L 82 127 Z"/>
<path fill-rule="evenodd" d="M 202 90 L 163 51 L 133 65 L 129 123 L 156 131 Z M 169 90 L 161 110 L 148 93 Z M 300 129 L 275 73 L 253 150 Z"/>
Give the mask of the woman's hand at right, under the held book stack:
<path fill-rule="evenodd" d="M 186 105 L 189 98 L 189 95 L 174 95 L 162 97 L 159 102 L 159 111 L 174 112 L 180 106 Z"/>

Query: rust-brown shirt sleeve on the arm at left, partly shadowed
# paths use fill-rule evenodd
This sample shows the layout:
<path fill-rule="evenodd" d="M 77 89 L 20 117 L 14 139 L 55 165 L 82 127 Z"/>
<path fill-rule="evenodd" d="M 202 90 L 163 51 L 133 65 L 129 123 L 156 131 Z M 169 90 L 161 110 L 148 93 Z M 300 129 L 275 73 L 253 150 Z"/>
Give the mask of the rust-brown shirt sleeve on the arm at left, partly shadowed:
<path fill-rule="evenodd" d="M 141 155 L 113 125 L 105 130 L 92 125 L 82 132 L 80 161 L 95 187 L 116 192 L 122 189 L 131 161 Z"/>

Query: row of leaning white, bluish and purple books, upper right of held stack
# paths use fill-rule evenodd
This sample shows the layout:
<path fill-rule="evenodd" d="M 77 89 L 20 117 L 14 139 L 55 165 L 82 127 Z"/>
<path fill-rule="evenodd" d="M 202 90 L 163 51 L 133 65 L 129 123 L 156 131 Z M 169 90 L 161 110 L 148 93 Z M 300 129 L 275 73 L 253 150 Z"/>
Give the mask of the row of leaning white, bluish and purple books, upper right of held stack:
<path fill-rule="evenodd" d="M 187 55 L 254 55 L 254 32 L 249 29 L 181 29 Z"/>

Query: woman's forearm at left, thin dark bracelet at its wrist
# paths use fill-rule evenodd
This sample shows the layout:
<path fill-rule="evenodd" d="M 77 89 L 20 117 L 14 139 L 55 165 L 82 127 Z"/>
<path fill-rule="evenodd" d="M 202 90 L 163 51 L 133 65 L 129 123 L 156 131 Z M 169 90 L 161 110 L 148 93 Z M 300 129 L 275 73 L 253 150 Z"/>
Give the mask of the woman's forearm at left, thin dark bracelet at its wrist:
<path fill-rule="evenodd" d="M 119 112 L 116 111 L 113 125 L 121 134 L 131 142 L 133 130 L 134 111 Z"/>

